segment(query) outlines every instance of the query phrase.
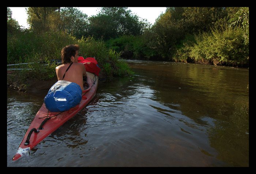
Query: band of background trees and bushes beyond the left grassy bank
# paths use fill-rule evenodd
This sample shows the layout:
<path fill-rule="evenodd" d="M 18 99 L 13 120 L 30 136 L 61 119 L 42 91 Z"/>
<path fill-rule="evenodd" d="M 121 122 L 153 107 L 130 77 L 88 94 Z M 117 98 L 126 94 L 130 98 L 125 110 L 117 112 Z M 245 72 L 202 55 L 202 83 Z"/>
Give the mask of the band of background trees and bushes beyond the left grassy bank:
<path fill-rule="evenodd" d="M 128 7 L 101 7 L 91 17 L 73 7 L 29 7 L 27 14 L 30 31 L 91 36 L 136 58 L 249 62 L 248 7 L 167 7 L 152 26 Z M 7 8 L 7 32 L 18 28 Z"/>

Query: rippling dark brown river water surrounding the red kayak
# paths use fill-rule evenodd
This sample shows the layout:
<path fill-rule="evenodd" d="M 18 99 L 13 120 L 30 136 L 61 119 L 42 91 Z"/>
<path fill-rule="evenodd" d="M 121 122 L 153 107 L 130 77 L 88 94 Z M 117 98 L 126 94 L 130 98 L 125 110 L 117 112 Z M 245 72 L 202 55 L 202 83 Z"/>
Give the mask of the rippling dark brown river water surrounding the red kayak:
<path fill-rule="evenodd" d="M 48 90 L 7 88 L 7 166 L 249 166 L 249 70 L 127 61 L 75 117 L 12 161 Z"/>

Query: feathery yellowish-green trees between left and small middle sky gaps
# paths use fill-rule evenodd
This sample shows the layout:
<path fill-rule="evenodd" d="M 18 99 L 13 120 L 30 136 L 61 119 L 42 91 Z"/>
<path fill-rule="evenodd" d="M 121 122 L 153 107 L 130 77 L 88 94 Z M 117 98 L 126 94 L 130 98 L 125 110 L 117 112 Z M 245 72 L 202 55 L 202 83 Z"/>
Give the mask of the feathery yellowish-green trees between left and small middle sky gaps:
<path fill-rule="evenodd" d="M 87 33 L 87 15 L 73 7 L 29 7 L 27 14 L 34 31 L 63 31 L 79 39 Z"/>

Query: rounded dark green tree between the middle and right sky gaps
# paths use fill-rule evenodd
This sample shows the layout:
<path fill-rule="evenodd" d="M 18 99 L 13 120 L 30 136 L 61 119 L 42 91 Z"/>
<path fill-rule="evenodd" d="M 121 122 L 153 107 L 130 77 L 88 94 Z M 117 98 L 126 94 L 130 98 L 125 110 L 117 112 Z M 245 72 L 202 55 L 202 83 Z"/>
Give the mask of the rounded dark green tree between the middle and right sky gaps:
<path fill-rule="evenodd" d="M 141 35 L 148 26 L 132 15 L 128 7 L 102 7 L 101 11 L 89 19 L 89 35 L 108 40 L 123 35 Z"/>

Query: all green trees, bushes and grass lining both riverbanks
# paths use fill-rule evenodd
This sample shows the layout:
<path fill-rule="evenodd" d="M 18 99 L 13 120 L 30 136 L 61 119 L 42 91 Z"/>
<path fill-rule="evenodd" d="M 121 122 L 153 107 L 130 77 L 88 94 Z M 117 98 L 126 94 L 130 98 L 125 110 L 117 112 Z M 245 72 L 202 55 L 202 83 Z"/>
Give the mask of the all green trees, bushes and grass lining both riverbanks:
<path fill-rule="evenodd" d="M 152 26 L 127 7 L 102 7 L 89 18 L 73 7 L 29 7 L 27 14 L 30 28 L 21 29 L 7 7 L 7 64 L 34 62 L 7 75 L 18 88 L 56 77 L 50 60 L 69 44 L 95 57 L 107 79 L 132 74 L 120 57 L 249 67 L 248 7 L 167 7 Z"/>

